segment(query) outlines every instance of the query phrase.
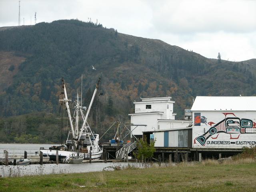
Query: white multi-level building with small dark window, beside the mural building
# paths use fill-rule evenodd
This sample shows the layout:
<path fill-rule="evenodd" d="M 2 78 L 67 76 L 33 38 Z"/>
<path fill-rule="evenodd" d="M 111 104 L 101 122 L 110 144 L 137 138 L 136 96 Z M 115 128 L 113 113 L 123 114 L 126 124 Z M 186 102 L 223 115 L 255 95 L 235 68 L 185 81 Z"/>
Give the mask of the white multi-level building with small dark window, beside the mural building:
<path fill-rule="evenodd" d="M 132 124 L 144 124 L 146 126 L 131 126 L 132 134 L 134 136 L 141 138 L 142 132 L 157 132 L 161 130 L 186 128 L 190 125 L 190 121 L 175 120 L 176 113 L 173 112 L 173 105 L 175 102 L 171 100 L 171 97 L 140 99 L 141 101 L 134 102 L 134 113 L 129 115 L 131 116 Z M 159 141 L 160 140 L 163 140 L 164 142 L 164 138 L 159 138 Z"/>

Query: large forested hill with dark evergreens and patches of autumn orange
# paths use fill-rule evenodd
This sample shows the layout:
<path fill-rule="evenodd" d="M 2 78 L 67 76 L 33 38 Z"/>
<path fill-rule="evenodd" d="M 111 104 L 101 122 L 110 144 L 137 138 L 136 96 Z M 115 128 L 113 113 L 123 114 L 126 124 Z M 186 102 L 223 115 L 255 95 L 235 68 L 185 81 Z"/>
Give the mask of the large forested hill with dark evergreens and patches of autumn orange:
<path fill-rule="evenodd" d="M 174 112 L 182 118 L 184 108 L 190 108 L 198 95 L 256 94 L 255 59 L 219 62 L 161 40 L 121 34 L 79 20 L 0 30 L 1 117 L 30 117 L 34 112 L 55 116 L 61 78 L 74 100 L 81 74 L 84 105 L 98 78 L 102 79 L 103 96 L 97 98 L 90 118 L 99 132 L 115 119 L 127 121 L 132 102 L 140 97 L 172 96 Z M 6 119 L 0 122 L 0 132 L 4 126 L 9 126 Z"/>

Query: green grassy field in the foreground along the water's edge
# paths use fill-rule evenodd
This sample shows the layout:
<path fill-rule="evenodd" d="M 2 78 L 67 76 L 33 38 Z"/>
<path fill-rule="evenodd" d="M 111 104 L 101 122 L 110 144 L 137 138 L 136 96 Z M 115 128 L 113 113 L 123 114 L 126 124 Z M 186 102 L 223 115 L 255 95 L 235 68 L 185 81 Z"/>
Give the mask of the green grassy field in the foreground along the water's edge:
<path fill-rule="evenodd" d="M 200 164 L 145 169 L 0 178 L 0 191 L 247 192 L 256 191 L 256 163 L 249 161 L 219 164 L 210 160 Z"/>

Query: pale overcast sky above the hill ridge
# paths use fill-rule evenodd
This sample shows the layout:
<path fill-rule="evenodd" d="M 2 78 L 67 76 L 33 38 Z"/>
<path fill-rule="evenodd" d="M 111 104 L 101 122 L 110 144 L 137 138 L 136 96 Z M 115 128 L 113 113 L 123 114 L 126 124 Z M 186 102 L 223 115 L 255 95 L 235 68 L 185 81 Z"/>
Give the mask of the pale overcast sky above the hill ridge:
<path fill-rule="evenodd" d="M 256 0 L 21 0 L 21 24 L 59 19 L 101 23 L 160 39 L 207 58 L 256 58 Z M 31 18 L 31 20 L 30 20 Z M 18 0 L 0 0 L 0 27 L 18 25 Z"/>

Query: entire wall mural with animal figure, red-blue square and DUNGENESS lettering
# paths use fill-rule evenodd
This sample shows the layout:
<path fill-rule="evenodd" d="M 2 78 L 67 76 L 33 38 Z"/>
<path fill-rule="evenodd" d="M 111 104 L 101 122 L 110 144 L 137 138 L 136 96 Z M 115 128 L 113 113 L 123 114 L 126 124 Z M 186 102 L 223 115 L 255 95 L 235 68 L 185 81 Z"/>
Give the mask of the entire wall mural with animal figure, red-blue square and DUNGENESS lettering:
<path fill-rule="evenodd" d="M 211 142 L 207 144 L 240 144 L 240 145 L 256 145 L 256 141 L 236 141 L 241 134 L 256 134 L 256 122 L 246 118 L 239 118 L 234 113 L 222 113 L 224 119 L 220 122 L 207 122 L 205 116 L 201 113 L 194 114 L 194 126 L 202 126 L 200 124 L 209 125 L 210 128 L 204 134 L 194 138 L 194 144 L 198 143 L 205 146 L 207 140 L 211 138 Z M 228 117 L 227 117 L 228 116 Z M 228 134 L 229 140 L 214 142 L 221 133 Z M 238 142 L 238 143 L 237 143 Z M 247 143 L 248 142 L 248 143 Z"/>

